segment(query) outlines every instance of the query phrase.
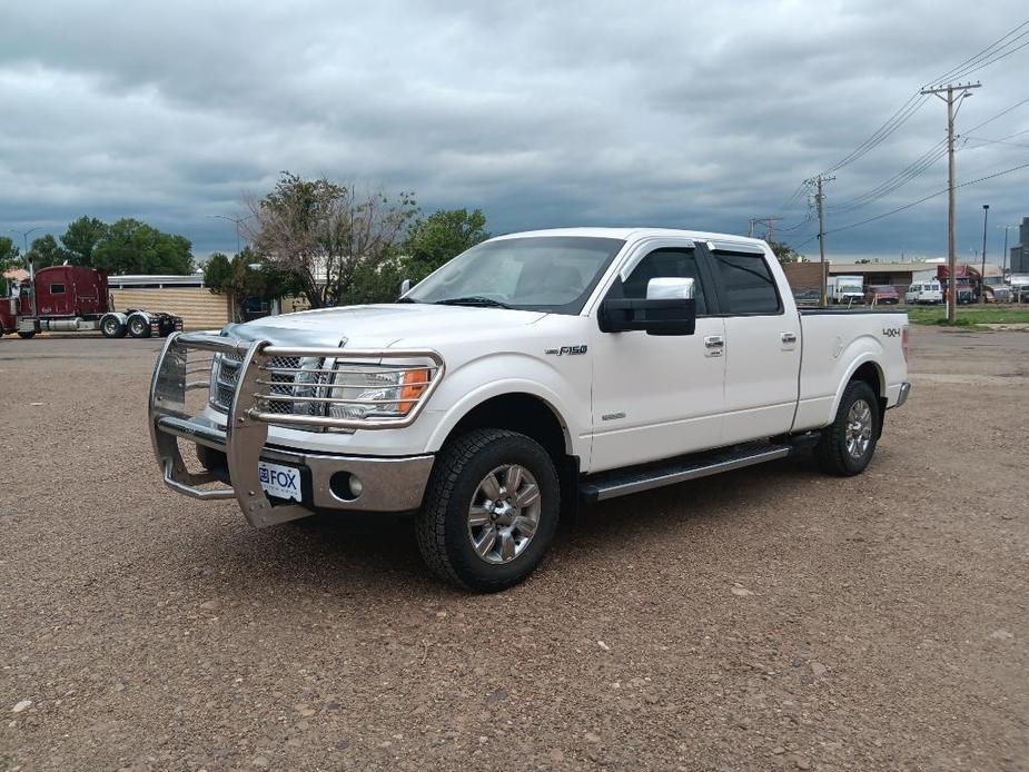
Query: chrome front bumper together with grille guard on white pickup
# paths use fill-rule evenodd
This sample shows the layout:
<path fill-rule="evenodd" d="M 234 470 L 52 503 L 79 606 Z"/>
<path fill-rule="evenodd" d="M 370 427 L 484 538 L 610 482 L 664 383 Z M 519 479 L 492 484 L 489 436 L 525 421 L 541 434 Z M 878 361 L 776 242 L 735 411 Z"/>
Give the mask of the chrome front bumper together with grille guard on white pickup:
<path fill-rule="evenodd" d="M 186 410 L 186 393 L 206 389 L 208 379 L 194 379 L 201 368 L 187 366 L 187 349 L 200 349 L 214 354 L 243 356 L 241 375 L 232 399 L 226 425 L 222 427 L 204 416 L 192 416 Z M 268 424 L 293 420 L 310 425 L 313 416 L 283 416 L 261 413 L 255 390 L 260 383 L 261 363 L 283 354 L 266 340 L 239 342 L 209 334 L 172 334 L 157 360 L 150 384 L 149 424 L 150 439 L 164 474 L 165 484 L 174 491 L 199 499 L 236 498 L 244 515 L 255 527 L 284 523 L 305 517 L 318 509 L 348 509 L 360 512 L 406 512 L 422 504 L 425 486 L 433 467 L 432 455 L 405 457 L 369 457 L 305 453 L 296 449 L 266 445 Z M 345 349 L 316 350 L 305 353 L 330 355 L 336 358 L 378 356 L 402 358 L 422 356 L 438 362 L 442 376 L 442 360 L 434 352 L 356 352 Z M 432 392 L 433 386 L 425 394 Z M 402 420 L 365 424 L 362 428 L 392 428 L 406 426 L 418 414 L 423 403 Z M 354 422 L 320 418 L 326 426 L 355 428 Z M 186 468 L 179 451 L 179 441 L 185 439 L 201 448 L 198 453 L 206 469 L 192 473 Z M 258 462 L 285 464 L 300 471 L 303 502 L 269 498 L 260 484 Z M 360 481 L 354 495 L 349 484 Z M 201 487 L 220 484 L 219 487 Z M 226 487 L 228 485 L 228 487 Z"/>

